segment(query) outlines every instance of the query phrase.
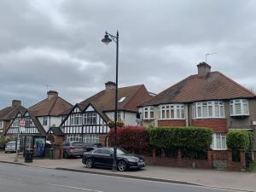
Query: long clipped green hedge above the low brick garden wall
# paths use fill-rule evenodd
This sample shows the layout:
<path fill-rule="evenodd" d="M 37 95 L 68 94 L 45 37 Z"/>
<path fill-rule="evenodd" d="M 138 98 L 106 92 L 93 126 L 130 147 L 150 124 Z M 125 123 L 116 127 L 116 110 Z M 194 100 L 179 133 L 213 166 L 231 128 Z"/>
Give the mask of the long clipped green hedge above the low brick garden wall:
<path fill-rule="evenodd" d="M 149 128 L 149 143 L 156 148 L 206 150 L 212 143 L 212 130 L 203 127 Z"/>

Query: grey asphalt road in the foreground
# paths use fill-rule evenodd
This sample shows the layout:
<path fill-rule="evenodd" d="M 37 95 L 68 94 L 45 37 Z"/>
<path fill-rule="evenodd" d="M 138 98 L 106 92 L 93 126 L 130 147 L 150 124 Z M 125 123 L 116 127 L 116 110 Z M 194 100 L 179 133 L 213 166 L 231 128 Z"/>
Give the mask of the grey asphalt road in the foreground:
<path fill-rule="evenodd" d="M 0 192 L 217 192 L 176 183 L 64 172 L 0 163 Z"/>

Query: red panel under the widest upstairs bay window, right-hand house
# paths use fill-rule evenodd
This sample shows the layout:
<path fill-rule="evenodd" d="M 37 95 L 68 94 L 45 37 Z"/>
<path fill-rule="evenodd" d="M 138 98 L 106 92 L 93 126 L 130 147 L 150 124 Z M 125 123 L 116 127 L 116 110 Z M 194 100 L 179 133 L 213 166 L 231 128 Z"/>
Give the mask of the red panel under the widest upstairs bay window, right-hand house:
<path fill-rule="evenodd" d="M 228 131 L 227 119 L 192 119 L 191 125 L 209 127 L 213 132 L 219 133 Z"/>

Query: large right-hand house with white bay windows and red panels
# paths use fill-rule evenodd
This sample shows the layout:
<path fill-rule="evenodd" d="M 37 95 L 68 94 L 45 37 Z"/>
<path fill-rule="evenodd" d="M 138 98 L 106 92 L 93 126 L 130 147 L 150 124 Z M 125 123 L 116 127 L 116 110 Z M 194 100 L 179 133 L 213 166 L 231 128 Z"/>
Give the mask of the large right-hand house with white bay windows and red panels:
<path fill-rule="evenodd" d="M 229 130 L 253 131 L 256 150 L 256 95 L 205 62 L 198 73 L 138 106 L 143 125 L 212 128 L 212 149 L 226 150 Z"/>

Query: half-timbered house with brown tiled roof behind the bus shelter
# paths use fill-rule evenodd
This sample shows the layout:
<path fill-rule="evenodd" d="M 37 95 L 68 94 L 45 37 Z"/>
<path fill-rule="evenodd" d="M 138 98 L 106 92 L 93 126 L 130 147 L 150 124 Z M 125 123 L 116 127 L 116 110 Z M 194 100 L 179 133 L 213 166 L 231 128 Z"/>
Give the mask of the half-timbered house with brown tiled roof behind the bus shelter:
<path fill-rule="evenodd" d="M 49 90 L 47 98 L 43 101 L 28 109 L 20 108 L 12 116 L 4 135 L 6 137 L 17 137 L 20 130 L 20 121 L 24 121 L 24 131 L 20 131 L 20 149 L 33 148 L 35 138 L 46 137 L 46 133 L 51 126 L 59 126 L 61 124 L 60 114 L 71 107 L 72 104 L 58 96 L 57 91 Z"/>

